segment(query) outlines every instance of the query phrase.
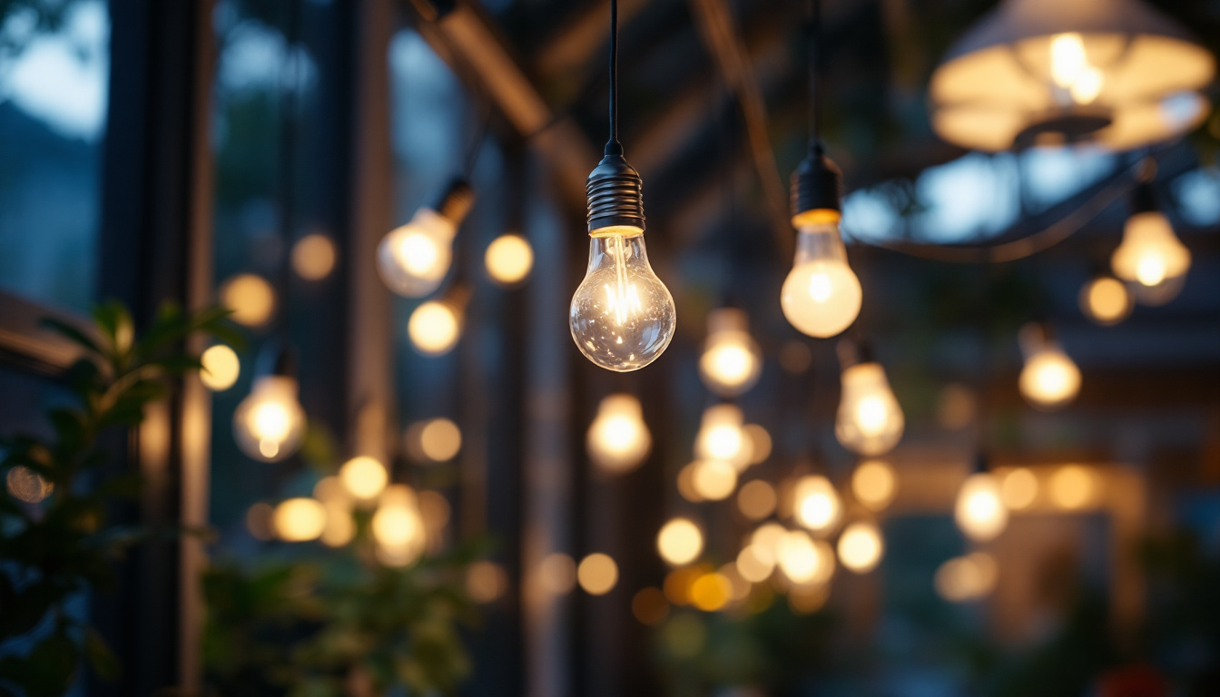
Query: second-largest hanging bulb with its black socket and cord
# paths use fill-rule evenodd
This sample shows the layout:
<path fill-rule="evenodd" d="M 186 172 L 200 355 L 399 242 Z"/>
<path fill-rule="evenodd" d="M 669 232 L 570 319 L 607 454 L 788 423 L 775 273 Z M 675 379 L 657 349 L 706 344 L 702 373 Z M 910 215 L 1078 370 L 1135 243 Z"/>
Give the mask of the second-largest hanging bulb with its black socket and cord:
<path fill-rule="evenodd" d="M 792 226 L 797 258 L 783 282 L 783 316 L 802 333 L 826 338 L 842 333 L 860 314 L 860 280 L 847 261 L 839 221 L 843 217 L 843 173 L 826 156 L 819 138 L 821 7 L 810 2 L 813 31 L 809 49 L 809 154 L 792 175 Z"/>

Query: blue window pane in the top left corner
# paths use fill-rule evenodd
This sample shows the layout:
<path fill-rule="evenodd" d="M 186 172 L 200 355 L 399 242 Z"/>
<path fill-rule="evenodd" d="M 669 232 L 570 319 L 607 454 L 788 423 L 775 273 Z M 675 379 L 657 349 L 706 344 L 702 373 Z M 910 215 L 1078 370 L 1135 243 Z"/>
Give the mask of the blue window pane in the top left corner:
<path fill-rule="evenodd" d="M 0 2 L 0 288 L 90 304 L 109 77 L 105 1 Z"/>

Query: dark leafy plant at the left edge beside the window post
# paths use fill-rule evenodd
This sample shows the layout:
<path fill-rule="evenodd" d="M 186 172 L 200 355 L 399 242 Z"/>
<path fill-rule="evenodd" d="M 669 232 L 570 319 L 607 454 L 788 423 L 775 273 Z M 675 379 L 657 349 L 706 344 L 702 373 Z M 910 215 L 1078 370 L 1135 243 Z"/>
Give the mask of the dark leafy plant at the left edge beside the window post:
<path fill-rule="evenodd" d="M 137 497 L 140 475 L 110 466 L 112 453 L 102 443 L 107 432 L 139 425 L 144 408 L 167 394 L 170 378 L 201 367 L 199 356 L 181 348 L 188 336 L 237 341 L 227 314 L 166 305 L 139 338 L 118 303 L 93 311 L 93 331 L 45 322 L 82 356 L 66 375 L 76 403 L 48 414 L 51 435 L 0 441 L 9 482 L 0 496 L 0 646 L 11 649 L 18 638 L 32 645 L 26 655 L 0 657 L 0 696 L 63 695 L 83 659 L 101 677 L 120 671 L 100 635 L 66 608 L 81 591 L 111 588 L 111 562 L 155 532 L 107 520 L 115 502 Z"/>

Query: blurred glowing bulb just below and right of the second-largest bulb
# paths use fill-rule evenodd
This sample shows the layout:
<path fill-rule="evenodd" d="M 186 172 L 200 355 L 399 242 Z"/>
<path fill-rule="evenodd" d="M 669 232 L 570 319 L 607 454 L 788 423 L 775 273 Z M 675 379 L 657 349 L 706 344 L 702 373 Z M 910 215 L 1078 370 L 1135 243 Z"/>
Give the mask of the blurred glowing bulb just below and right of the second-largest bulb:
<path fill-rule="evenodd" d="M 903 409 L 889 389 L 886 369 L 859 363 L 843 369 L 843 394 L 834 419 L 834 436 L 847 449 L 866 457 L 883 455 L 903 437 Z"/>

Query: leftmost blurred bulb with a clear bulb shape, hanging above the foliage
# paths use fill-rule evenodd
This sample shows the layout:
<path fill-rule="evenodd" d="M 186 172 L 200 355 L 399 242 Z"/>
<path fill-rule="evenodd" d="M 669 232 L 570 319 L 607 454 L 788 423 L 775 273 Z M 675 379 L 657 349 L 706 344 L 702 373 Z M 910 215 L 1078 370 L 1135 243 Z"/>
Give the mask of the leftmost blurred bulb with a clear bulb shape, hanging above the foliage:
<path fill-rule="evenodd" d="M 305 410 L 295 377 L 267 375 L 233 413 L 233 436 L 246 455 L 274 463 L 296 452 L 305 437 Z"/>

